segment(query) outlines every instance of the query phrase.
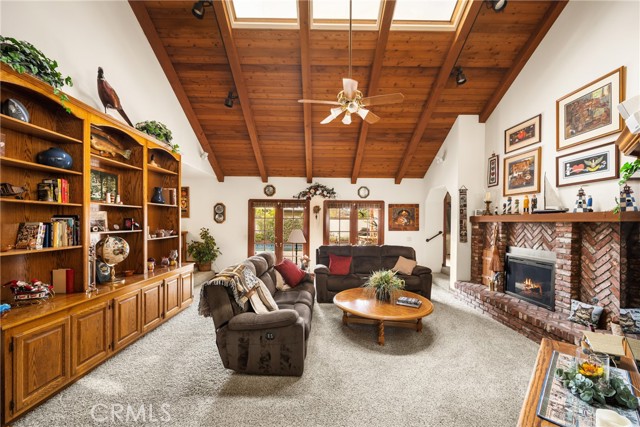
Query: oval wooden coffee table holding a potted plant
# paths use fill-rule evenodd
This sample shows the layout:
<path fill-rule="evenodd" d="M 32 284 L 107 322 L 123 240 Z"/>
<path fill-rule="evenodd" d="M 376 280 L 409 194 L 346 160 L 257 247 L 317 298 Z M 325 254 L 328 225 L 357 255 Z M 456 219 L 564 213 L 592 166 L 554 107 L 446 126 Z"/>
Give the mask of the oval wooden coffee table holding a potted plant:
<path fill-rule="evenodd" d="M 398 296 L 418 298 L 422 304 L 418 308 L 405 307 L 377 300 L 371 290 L 353 288 L 333 297 L 333 303 L 342 310 L 342 323 L 364 323 L 378 325 L 378 344 L 384 345 L 384 326 L 422 331 L 422 318 L 433 312 L 433 304 L 425 297 L 409 291 L 400 291 Z"/>

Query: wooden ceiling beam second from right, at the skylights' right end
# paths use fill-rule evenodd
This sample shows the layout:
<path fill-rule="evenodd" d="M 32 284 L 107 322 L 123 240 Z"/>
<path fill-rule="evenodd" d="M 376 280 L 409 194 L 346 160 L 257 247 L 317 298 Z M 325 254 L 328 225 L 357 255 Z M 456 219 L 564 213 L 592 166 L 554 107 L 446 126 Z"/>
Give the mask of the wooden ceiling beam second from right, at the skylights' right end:
<path fill-rule="evenodd" d="M 449 52 L 447 53 L 442 66 L 440 67 L 438 77 L 431 86 L 429 98 L 427 98 L 427 102 L 425 103 L 424 109 L 420 114 L 420 119 L 418 120 L 418 123 L 416 124 L 416 127 L 413 131 L 413 135 L 411 136 L 409 145 L 407 145 L 407 149 L 405 150 L 402 162 L 400 163 L 400 168 L 396 173 L 396 184 L 400 184 L 402 182 L 402 178 L 404 178 L 405 174 L 407 173 L 407 169 L 409 168 L 411 159 L 413 158 L 413 155 L 418 148 L 418 144 L 420 143 L 422 135 L 427 128 L 429 119 L 435 111 L 436 105 L 440 99 L 440 95 L 442 94 L 442 91 L 447 84 L 447 80 L 451 76 L 451 71 L 456 65 L 456 61 L 460 56 L 460 52 L 462 52 L 462 48 L 467 41 L 467 37 L 469 37 L 471 28 L 473 27 L 476 17 L 480 13 L 483 3 L 484 2 L 482 0 L 470 0 L 463 12 L 460 24 L 458 24 L 458 29 L 456 30 L 456 35 L 453 38 L 451 47 L 449 48 Z"/>

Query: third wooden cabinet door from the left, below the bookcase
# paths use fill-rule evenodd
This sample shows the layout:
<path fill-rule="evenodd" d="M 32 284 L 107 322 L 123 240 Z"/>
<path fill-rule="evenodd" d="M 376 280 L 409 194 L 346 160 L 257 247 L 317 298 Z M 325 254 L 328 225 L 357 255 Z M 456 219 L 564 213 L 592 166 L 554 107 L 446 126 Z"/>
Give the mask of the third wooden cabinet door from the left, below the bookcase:
<path fill-rule="evenodd" d="M 113 349 L 117 350 L 142 333 L 140 290 L 113 299 Z"/>

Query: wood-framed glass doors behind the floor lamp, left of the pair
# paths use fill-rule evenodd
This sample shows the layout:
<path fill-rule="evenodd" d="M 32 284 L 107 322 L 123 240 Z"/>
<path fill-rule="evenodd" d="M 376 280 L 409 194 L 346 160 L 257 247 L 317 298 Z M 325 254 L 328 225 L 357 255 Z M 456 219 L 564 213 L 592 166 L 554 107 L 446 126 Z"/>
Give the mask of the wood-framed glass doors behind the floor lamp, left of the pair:
<path fill-rule="evenodd" d="M 300 229 L 307 243 L 288 243 L 292 230 Z M 309 254 L 309 202 L 305 200 L 249 200 L 248 255 L 275 252 L 298 263 Z M 297 255 L 297 259 L 296 259 Z"/>

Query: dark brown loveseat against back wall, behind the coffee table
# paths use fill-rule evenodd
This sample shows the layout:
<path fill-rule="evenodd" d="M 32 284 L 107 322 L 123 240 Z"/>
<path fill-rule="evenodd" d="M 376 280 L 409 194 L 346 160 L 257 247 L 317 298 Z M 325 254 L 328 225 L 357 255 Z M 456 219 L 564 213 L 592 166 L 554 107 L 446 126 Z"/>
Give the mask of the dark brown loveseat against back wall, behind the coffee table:
<path fill-rule="evenodd" d="M 351 256 L 349 274 L 331 274 L 329 254 Z M 338 292 L 362 286 L 371 272 L 392 269 L 400 256 L 415 260 L 416 252 L 407 246 L 320 246 L 314 269 L 318 302 L 332 302 Z M 398 277 L 405 281 L 406 290 L 431 298 L 431 269 L 416 265 L 411 275 L 398 273 Z"/>

